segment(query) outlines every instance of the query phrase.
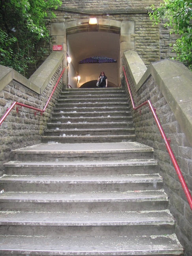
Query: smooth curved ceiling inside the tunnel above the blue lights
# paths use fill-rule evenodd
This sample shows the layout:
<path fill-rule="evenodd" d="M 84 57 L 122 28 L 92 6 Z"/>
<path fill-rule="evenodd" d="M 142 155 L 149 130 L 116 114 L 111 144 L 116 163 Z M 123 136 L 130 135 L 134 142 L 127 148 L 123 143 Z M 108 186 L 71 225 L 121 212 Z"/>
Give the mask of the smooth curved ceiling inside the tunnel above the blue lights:
<path fill-rule="evenodd" d="M 107 32 L 82 32 L 68 35 L 68 45 L 77 62 L 92 56 L 105 56 L 118 60 L 119 34 Z"/>

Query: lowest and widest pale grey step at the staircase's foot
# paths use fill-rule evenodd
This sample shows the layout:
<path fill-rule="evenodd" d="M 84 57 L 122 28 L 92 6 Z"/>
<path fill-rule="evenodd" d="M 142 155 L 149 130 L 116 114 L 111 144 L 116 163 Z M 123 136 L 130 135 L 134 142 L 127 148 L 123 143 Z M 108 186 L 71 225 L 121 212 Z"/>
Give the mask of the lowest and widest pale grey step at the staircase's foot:
<path fill-rule="evenodd" d="M 176 235 L 159 236 L 21 236 L 0 239 L 0 255 L 181 255 L 183 248 Z M 134 254 L 133 254 L 134 252 Z"/>

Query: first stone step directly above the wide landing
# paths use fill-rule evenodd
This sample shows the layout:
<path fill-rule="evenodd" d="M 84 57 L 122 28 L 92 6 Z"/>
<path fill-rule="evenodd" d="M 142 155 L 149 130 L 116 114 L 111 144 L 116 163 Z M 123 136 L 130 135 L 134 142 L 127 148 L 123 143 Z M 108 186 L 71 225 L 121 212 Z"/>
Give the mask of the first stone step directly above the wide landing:
<path fill-rule="evenodd" d="M 102 143 L 102 142 L 130 142 L 136 141 L 136 135 L 96 135 L 91 136 L 41 136 L 43 143 Z"/>

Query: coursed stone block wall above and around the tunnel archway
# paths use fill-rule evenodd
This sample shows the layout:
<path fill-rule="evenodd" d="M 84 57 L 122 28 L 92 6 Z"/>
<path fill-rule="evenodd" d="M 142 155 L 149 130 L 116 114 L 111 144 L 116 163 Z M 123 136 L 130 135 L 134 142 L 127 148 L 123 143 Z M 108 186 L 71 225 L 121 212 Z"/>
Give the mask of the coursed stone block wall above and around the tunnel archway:
<path fill-rule="evenodd" d="M 56 19 L 51 19 L 51 23 L 67 23 L 89 17 L 113 19 L 117 22 L 134 21 L 135 31 L 131 35 L 130 42 L 134 43 L 133 50 L 139 54 L 148 67 L 157 60 L 176 57 L 176 54 L 172 52 L 173 47 L 170 47 L 169 43 L 174 43 L 178 35 L 169 34 L 170 30 L 164 28 L 165 21 L 153 26 L 152 21 L 149 19 L 148 10 L 151 10 L 151 5 L 154 4 L 157 8 L 160 6 L 160 2 L 162 0 L 66 0 L 62 1 L 62 6 L 55 10 Z M 50 24 L 48 25 L 48 30 L 50 32 L 50 42 L 49 45 L 45 45 L 48 53 L 44 57 L 49 55 L 49 49 L 51 52 L 54 44 L 66 43 L 60 35 L 51 34 Z M 44 57 L 41 63 L 45 59 Z M 34 70 L 30 68 L 29 75 L 33 72 Z"/>

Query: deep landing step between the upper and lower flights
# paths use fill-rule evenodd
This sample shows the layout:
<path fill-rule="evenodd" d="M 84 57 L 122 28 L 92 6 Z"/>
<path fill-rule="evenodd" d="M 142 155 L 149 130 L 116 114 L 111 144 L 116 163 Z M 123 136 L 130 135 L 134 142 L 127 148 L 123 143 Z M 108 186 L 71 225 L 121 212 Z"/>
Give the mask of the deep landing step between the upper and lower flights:
<path fill-rule="evenodd" d="M 153 148 L 137 142 L 117 143 L 41 143 L 13 150 L 14 160 L 30 161 L 110 161 L 151 159 Z"/>

